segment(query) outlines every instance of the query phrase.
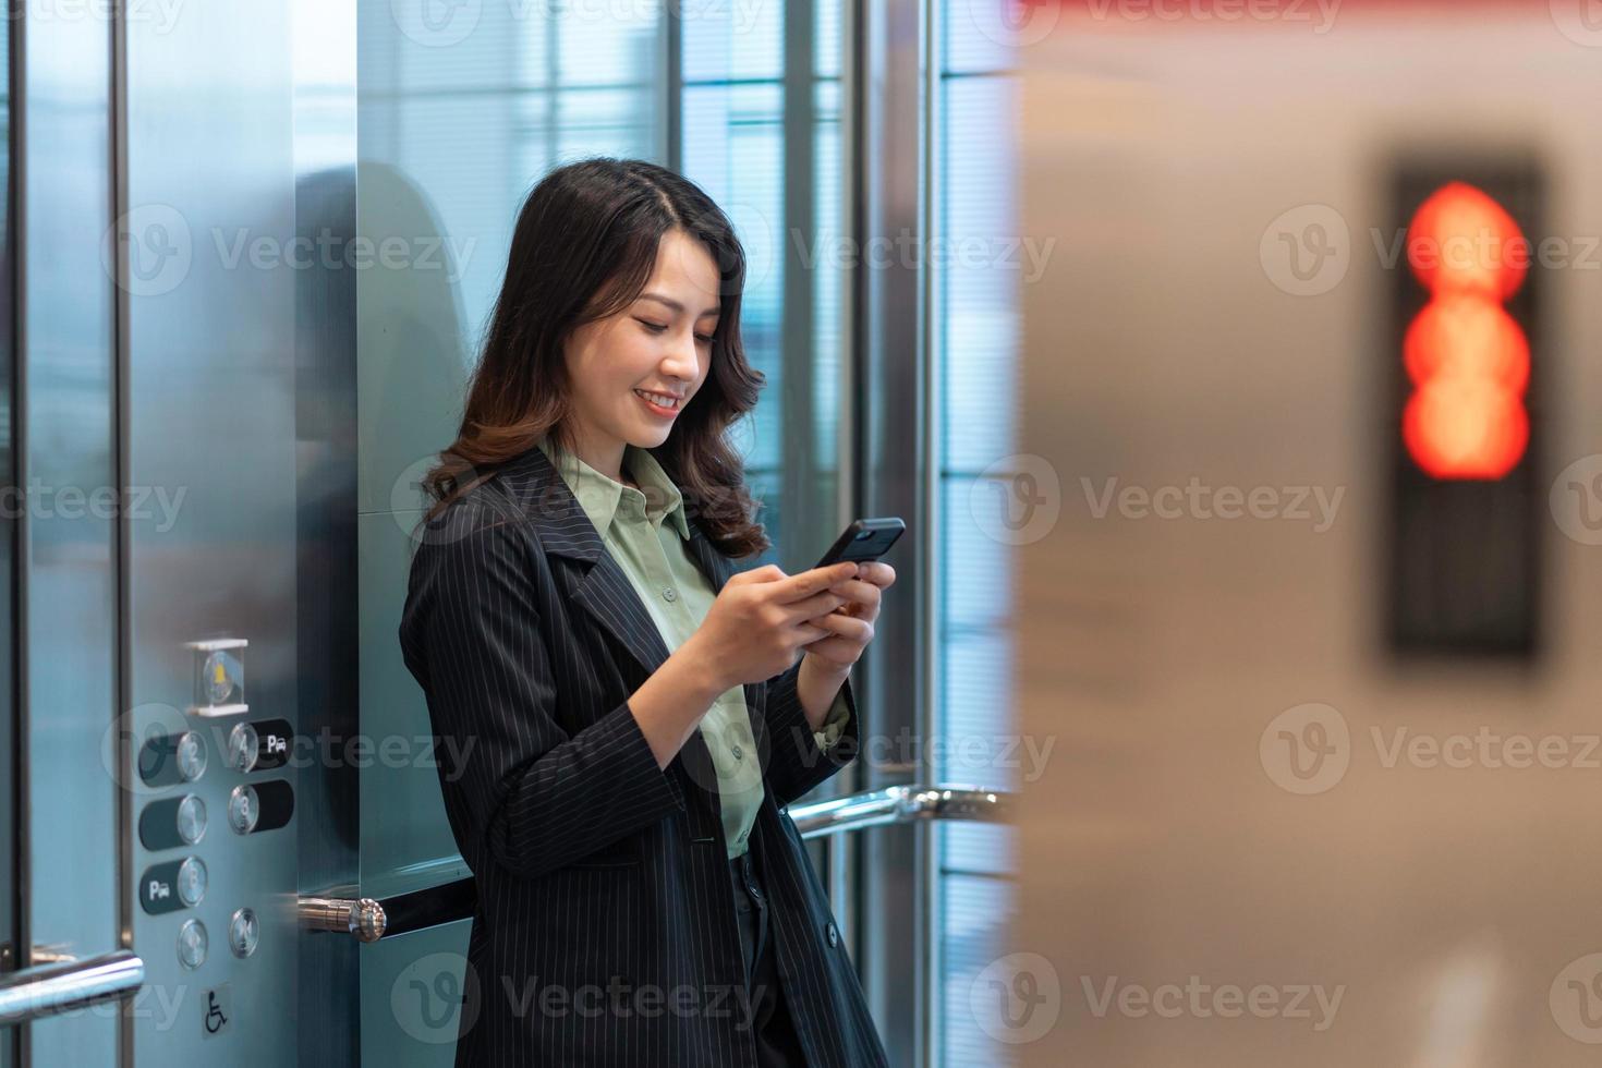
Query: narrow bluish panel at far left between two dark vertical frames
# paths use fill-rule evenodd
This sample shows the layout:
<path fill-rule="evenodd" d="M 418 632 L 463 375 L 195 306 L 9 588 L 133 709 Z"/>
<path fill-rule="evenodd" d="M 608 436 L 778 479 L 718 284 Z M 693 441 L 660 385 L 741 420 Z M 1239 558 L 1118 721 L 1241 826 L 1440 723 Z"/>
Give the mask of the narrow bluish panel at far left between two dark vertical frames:
<path fill-rule="evenodd" d="M 115 301 L 103 239 L 112 221 L 112 26 L 10 22 L 19 151 L 16 477 L 22 927 L 18 964 L 127 945 L 119 922 L 117 560 L 106 490 L 115 471 Z M 112 764 L 107 764 L 112 761 Z M 115 1007 L 22 1030 L 22 1063 L 117 1060 Z"/>

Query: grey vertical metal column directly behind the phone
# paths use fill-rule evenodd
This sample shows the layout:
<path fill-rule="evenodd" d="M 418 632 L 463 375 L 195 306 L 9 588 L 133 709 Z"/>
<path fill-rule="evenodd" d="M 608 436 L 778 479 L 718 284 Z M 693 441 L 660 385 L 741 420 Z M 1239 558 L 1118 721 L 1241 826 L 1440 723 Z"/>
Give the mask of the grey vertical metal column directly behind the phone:
<path fill-rule="evenodd" d="M 870 242 L 904 248 L 926 234 L 923 183 L 928 167 L 924 75 L 926 11 L 921 0 L 886 0 L 857 8 L 859 77 L 852 157 L 857 167 L 855 437 L 860 487 L 855 512 L 900 516 L 908 533 L 896 546 L 894 596 L 876 623 L 871 671 L 862 676 L 862 706 L 871 709 L 863 737 L 867 789 L 905 785 L 932 773 L 905 746 L 929 737 L 929 463 L 924 274 L 920 256 L 868 256 Z M 875 741 L 876 740 L 876 741 Z M 886 761 L 884 756 L 892 759 Z M 871 850 L 867 845 L 871 844 Z M 896 1065 L 928 1058 L 932 938 L 929 831 L 863 841 L 860 962 L 873 1015 Z"/>

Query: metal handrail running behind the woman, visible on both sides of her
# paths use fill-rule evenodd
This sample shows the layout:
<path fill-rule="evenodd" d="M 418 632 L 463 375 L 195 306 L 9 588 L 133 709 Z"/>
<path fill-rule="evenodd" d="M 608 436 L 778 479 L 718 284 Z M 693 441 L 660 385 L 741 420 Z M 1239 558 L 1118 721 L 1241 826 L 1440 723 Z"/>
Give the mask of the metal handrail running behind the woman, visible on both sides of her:
<path fill-rule="evenodd" d="M 1008 817 L 1011 794 L 974 786 L 888 786 L 847 797 L 791 805 L 790 818 L 804 839 L 863 831 L 892 823 L 924 820 L 1001 821 Z M 354 935 L 378 942 L 425 927 L 437 927 L 473 916 L 477 889 L 473 879 L 457 879 L 413 893 L 383 900 L 327 893 L 300 900 L 304 930 Z"/>

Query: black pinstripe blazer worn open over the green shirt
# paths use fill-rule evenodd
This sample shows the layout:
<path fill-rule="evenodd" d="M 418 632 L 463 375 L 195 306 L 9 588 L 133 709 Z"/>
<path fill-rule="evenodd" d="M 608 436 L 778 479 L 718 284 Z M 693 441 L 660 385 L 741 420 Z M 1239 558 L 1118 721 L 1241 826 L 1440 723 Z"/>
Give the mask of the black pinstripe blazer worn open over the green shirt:
<path fill-rule="evenodd" d="M 626 698 L 668 650 L 540 448 L 425 527 L 400 620 L 445 813 L 477 881 L 457 1065 L 756 1063 L 716 770 L 700 732 L 663 770 Z M 734 572 L 690 517 L 714 589 Z M 747 684 L 767 796 L 751 850 L 814 1068 L 886 1065 L 828 900 L 783 810 L 859 748 L 820 753 L 799 660 Z M 471 745 L 469 740 L 471 738 Z"/>

